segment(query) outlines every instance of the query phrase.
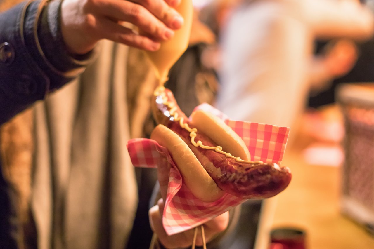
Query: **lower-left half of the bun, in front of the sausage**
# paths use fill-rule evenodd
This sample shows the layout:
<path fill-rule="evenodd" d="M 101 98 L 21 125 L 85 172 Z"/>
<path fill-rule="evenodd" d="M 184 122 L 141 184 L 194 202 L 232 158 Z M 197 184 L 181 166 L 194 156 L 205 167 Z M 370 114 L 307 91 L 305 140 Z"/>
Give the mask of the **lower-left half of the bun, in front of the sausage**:
<path fill-rule="evenodd" d="M 214 202 L 223 196 L 224 191 L 218 188 L 186 142 L 177 133 L 159 124 L 154 128 L 150 138 L 169 150 L 182 174 L 184 183 L 194 196 L 204 202 Z"/>

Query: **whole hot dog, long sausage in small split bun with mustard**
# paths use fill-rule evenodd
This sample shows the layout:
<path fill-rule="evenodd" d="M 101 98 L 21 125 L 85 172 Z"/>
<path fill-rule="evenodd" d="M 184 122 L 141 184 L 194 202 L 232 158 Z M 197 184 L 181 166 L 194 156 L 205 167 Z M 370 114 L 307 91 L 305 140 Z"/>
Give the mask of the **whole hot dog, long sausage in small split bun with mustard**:
<path fill-rule="evenodd" d="M 169 150 L 197 198 L 212 202 L 227 192 L 263 199 L 288 186 L 291 172 L 287 167 L 248 161 L 242 139 L 219 118 L 197 111 L 188 120 L 170 90 L 158 87 L 154 95 L 153 114 L 159 125 L 151 139 Z"/>

